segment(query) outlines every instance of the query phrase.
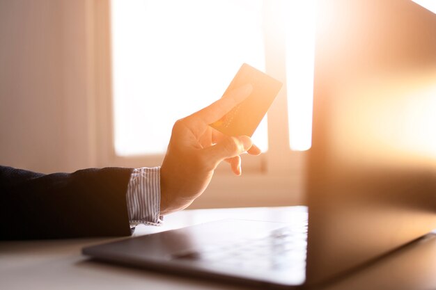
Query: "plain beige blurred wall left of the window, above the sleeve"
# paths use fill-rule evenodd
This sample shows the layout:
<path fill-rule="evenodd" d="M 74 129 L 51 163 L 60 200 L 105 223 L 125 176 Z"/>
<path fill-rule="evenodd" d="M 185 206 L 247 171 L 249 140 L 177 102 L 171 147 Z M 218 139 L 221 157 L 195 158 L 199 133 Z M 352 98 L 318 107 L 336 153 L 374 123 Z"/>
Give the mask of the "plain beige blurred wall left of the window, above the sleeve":
<path fill-rule="evenodd" d="M 0 164 L 95 166 L 86 0 L 0 0 Z"/>

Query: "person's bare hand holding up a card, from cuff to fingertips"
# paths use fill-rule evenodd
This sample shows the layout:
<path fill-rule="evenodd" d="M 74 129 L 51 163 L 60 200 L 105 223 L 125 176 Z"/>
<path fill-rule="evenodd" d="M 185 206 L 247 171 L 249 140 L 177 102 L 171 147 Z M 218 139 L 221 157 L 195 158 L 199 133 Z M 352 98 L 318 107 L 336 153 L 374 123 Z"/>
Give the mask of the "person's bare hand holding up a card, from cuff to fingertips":
<path fill-rule="evenodd" d="M 251 90 L 251 85 L 235 89 L 174 124 L 160 169 L 161 214 L 188 207 L 208 187 L 221 161 L 230 163 L 235 175 L 241 175 L 240 154 L 260 154 L 249 136 L 225 136 L 209 126 L 248 97 Z"/>

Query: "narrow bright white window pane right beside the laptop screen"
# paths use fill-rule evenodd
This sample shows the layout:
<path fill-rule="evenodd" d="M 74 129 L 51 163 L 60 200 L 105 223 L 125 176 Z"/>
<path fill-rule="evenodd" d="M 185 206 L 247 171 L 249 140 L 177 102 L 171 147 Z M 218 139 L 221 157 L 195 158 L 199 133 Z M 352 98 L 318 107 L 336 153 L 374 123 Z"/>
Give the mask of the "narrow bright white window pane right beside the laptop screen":
<path fill-rule="evenodd" d="M 283 1 L 290 149 L 311 147 L 316 1 Z"/>

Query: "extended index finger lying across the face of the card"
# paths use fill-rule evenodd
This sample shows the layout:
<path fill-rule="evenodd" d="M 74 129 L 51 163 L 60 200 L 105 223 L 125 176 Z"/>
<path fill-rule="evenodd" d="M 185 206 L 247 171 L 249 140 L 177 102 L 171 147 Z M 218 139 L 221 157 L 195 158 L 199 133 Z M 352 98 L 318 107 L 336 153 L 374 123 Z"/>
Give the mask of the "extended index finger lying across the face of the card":
<path fill-rule="evenodd" d="M 252 91 L 253 86 L 251 84 L 231 90 L 231 92 L 228 92 L 228 95 L 226 94 L 226 96 L 192 114 L 192 116 L 200 118 L 206 124 L 211 124 L 230 112 L 232 108 L 246 99 Z"/>

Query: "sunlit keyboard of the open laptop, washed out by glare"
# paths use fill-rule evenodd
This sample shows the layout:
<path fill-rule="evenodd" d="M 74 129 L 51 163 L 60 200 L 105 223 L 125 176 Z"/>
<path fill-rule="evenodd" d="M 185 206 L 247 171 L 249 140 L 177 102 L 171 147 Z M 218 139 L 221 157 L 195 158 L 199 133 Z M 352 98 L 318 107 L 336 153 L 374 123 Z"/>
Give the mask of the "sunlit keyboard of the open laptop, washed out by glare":
<path fill-rule="evenodd" d="M 307 223 L 274 229 L 258 239 L 210 245 L 173 254 L 174 259 L 190 259 L 219 266 L 250 270 L 290 270 L 306 266 Z"/>

